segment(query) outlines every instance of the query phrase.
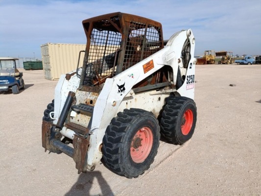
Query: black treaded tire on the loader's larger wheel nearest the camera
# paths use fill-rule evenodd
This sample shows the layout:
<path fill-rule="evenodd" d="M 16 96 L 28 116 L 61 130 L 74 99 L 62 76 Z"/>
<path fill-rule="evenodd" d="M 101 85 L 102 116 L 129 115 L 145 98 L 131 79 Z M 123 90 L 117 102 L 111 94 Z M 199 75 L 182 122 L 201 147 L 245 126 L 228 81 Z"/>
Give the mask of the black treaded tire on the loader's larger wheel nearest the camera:
<path fill-rule="evenodd" d="M 131 147 L 135 134 L 143 127 L 151 130 L 153 141 L 148 156 L 143 162 L 137 163 L 131 157 Z M 155 116 L 142 109 L 124 109 L 106 129 L 102 146 L 103 161 L 111 171 L 127 178 L 136 178 L 149 169 L 159 144 L 160 126 Z"/>

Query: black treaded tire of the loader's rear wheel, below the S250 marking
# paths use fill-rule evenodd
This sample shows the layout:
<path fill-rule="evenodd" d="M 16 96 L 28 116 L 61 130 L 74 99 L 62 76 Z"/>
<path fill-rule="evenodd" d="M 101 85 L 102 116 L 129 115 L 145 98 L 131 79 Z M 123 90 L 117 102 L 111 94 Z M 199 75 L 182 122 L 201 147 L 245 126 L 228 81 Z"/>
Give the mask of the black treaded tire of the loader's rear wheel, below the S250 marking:
<path fill-rule="evenodd" d="M 186 135 L 182 133 L 182 123 L 185 123 L 184 115 L 190 111 L 192 115 L 191 127 Z M 170 97 L 167 101 L 161 118 L 161 134 L 166 140 L 175 145 L 183 145 L 190 140 L 194 133 L 197 121 L 197 108 L 191 98 Z"/>

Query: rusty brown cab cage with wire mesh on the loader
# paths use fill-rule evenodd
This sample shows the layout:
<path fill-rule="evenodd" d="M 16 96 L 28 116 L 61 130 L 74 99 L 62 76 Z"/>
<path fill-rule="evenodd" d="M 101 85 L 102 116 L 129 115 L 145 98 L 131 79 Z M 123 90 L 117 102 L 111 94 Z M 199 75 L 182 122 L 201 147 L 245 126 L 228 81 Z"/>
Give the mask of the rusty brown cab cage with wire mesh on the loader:
<path fill-rule="evenodd" d="M 102 84 L 164 48 L 160 23 L 113 13 L 83 21 L 87 47 L 80 89 Z"/>

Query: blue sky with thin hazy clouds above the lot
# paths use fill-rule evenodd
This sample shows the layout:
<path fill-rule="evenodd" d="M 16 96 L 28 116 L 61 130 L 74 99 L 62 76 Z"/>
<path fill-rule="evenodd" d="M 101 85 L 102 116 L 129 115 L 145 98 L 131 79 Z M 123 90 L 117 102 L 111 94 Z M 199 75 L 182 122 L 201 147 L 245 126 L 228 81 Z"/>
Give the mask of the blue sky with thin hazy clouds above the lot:
<path fill-rule="evenodd" d="M 190 28 L 195 56 L 261 55 L 261 0 L 0 0 L 0 56 L 41 59 L 43 44 L 86 44 L 82 21 L 112 12 L 160 22 L 164 40 Z"/>

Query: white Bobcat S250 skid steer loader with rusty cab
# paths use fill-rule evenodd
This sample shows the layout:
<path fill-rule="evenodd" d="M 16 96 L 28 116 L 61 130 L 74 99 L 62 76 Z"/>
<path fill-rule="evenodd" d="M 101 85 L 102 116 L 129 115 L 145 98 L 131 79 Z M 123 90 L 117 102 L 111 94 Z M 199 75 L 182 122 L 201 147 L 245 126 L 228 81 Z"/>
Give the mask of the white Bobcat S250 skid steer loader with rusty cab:
<path fill-rule="evenodd" d="M 42 146 L 71 156 L 78 173 L 102 161 L 138 177 L 160 135 L 182 145 L 194 132 L 195 38 L 189 29 L 164 41 L 160 23 L 120 12 L 82 24 L 84 62 L 61 75 L 44 112 Z"/>

